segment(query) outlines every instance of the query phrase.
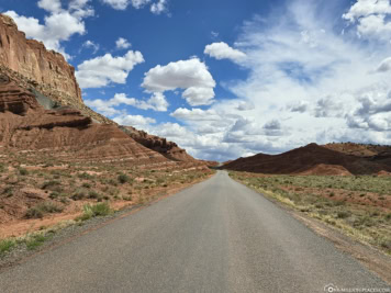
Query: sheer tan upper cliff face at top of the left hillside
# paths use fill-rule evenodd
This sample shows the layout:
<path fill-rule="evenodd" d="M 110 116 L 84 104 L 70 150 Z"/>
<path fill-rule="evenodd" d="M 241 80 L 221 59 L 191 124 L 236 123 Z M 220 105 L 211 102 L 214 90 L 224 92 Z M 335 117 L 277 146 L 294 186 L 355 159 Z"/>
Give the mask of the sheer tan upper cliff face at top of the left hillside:
<path fill-rule="evenodd" d="M 9 68 L 32 84 L 45 84 L 81 102 L 81 91 L 75 78 L 75 68 L 64 56 L 47 50 L 43 43 L 26 40 L 14 21 L 0 14 L 0 65 Z"/>

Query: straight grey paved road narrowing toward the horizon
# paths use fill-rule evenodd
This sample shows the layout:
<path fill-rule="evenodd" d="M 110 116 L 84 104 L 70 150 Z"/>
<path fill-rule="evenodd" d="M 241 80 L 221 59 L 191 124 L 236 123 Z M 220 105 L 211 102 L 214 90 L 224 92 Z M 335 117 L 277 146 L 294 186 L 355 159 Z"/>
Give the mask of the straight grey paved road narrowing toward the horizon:
<path fill-rule="evenodd" d="M 0 292 L 388 288 L 224 171 L 0 274 Z"/>

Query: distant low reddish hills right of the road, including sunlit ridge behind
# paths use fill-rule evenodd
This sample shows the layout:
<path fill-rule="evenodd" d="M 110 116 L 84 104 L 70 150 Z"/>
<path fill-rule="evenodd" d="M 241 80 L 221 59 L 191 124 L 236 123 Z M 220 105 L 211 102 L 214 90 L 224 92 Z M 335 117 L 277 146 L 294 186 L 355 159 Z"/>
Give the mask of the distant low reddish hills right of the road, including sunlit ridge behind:
<path fill-rule="evenodd" d="M 268 174 L 349 176 L 391 172 L 391 147 L 310 144 L 280 155 L 258 154 L 224 164 L 223 169 Z"/>

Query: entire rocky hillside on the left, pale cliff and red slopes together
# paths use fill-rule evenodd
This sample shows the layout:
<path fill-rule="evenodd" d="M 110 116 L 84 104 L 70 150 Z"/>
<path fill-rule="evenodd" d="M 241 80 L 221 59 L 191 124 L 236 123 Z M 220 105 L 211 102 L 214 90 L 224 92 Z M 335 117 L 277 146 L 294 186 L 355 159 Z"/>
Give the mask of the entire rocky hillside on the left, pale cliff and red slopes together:
<path fill-rule="evenodd" d="M 81 99 L 65 58 L 0 14 L 0 153 L 55 151 L 66 160 L 202 165 L 165 138 L 119 127 Z"/>

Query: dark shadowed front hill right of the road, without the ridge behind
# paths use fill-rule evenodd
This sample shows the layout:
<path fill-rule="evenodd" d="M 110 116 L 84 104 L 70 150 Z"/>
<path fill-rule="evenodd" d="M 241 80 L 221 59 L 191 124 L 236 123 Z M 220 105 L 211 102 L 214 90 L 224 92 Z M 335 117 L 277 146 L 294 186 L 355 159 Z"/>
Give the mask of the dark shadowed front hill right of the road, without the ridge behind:
<path fill-rule="evenodd" d="M 239 158 L 224 169 L 276 174 L 372 174 L 391 171 L 391 165 L 376 157 L 346 155 L 316 144 L 292 149 L 280 155 L 258 154 Z"/>

